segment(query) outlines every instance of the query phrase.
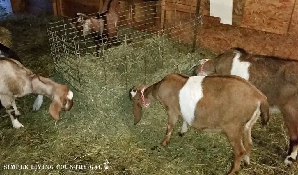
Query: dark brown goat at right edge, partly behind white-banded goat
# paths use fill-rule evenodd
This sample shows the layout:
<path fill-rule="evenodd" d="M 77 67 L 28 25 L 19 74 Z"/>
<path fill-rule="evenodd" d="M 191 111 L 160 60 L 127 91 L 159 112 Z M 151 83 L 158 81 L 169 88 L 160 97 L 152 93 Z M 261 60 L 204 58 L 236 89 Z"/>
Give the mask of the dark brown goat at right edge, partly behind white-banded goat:
<path fill-rule="evenodd" d="M 203 65 L 203 66 L 202 66 Z M 238 75 L 264 93 L 271 113 L 282 113 L 290 134 L 285 164 L 298 160 L 298 61 L 249 54 L 234 47 L 215 57 L 202 59 L 190 70 L 193 75 Z"/>

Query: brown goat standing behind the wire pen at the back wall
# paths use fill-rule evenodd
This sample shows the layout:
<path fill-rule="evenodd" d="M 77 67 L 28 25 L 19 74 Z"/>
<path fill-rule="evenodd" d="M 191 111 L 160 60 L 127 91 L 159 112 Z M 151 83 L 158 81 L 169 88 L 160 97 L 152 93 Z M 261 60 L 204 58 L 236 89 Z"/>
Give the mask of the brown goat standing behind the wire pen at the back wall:
<path fill-rule="evenodd" d="M 115 42 L 117 36 L 117 15 L 116 10 L 112 9 L 111 4 L 119 0 L 106 0 L 100 13 L 95 16 L 88 16 L 83 13 L 77 13 L 77 18 L 71 22 L 72 28 L 76 31 L 83 31 L 83 35 L 91 34 L 94 37 L 97 50 L 99 45 L 106 42 Z"/>

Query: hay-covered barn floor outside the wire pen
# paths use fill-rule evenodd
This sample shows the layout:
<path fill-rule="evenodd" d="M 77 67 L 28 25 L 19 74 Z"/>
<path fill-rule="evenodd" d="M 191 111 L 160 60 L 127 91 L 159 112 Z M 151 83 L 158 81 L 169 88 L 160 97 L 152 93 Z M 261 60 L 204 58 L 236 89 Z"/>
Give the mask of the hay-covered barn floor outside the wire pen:
<path fill-rule="evenodd" d="M 25 66 L 63 83 L 54 73 L 46 36 L 46 23 L 55 20 L 58 19 L 45 15 L 11 15 L 1 19 L 0 26 L 11 31 L 12 49 Z M 25 126 L 20 130 L 15 130 L 5 111 L 0 110 L 0 174 L 221 175 L 232 165 L 233 151 L 224 134 L 189 129 L 181 137 L 180 121 L 170 144 L 162 147 L 167 115 L 158 103 L 144 109 L 142 120 L 133 125 L 132 103 L 127 94 L 107 100 L 92 91 L 86 95 L 75 93 L 72 110 L 61 112 L 61 120 L 55 122 L 49 117 L 50 101 L 46 97 L 38 112 L 31 111 L 35 97 L 28 95 L 17 100 L 23 114 L 19 121 Z M 287 135 L 282 116 L 272 116 L 267 130 L 258 121 L 252 131 L 251 165 L 241 166 L 239 174 L 298 174 L 297 163 L 290 167 L 283 164 Z M 108 170 L 102 165 L 106 159 Z M 29 165 L 29 169 L 4 169 L 9 164 Z M 57 168 L 65 164 L 87 168 Z M 95 169 L 95 165 L 103 169 Z"/>

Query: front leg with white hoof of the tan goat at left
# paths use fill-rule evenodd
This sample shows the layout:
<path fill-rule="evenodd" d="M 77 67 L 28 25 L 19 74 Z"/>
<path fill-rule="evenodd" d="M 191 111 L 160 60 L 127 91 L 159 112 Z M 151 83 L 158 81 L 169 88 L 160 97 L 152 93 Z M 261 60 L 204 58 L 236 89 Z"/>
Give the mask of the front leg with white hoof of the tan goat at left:
<path fill-rule="evenodd" d="M 10 102 L 11 98 L 9 98 L 7 96 L 1 96 L 0 100 L 1 100 L 1 103 L 4 106 L 4 108 L 6 109 L 6 112 L 10 116 L 11 122 L 13 123 L 13 128 L 20 129 L 20 128 L 24 127 L 24 125 L 22 125 L 18 121 L 18 119 L 16 119 L 17 115 L 16 115 L 14 107 L 12 106 L 12 104 L 15 105 L 15 100 L 13 99 L 12 102 Z M 16 108 L 16 105 L 15 105 L 15 108 Z M 17 109 L 17 111 L 18 111 L 18 109 Z"/>

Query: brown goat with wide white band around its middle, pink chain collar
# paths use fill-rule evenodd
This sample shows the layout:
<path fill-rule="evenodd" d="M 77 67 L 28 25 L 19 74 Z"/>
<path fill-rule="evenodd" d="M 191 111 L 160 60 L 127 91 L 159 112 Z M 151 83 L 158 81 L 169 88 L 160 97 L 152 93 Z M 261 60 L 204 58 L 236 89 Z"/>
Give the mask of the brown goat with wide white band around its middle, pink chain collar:
<path fill-rule="evenodd" d="M 149 87 L 132 88 L 129 95 L 134 102 L 134 124 L 140 121 L 145 102 L 159 101 L 166 109 L 169 120 L 163 146 L 170 142 L 179 116 L 199 131 L 224 131 L 235 156 L 230 174 L 239 170 L 244 155 L 249 165 L 251 129 L 260 114 L 263 126 L 269 121 L 266 96 L 238 76 L 189 77 L 172 73 Z"/>

